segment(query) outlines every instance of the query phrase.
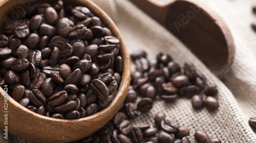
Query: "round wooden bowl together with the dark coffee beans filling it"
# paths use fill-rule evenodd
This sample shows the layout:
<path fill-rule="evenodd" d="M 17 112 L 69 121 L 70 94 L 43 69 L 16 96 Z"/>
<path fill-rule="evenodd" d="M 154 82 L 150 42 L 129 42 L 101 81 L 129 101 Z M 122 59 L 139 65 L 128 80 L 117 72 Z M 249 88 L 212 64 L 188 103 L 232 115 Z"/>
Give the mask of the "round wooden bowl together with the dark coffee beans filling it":
<path fill-rule="evenodd" d="M 72 141 L 108 123 L 131 78 L 113 21 L 90 1 L 29 3 L 17 17 L 5 8 L 18 3 L 1 3 L 9 20 L 0 35 L 9 131 L 36 142 Z"/>

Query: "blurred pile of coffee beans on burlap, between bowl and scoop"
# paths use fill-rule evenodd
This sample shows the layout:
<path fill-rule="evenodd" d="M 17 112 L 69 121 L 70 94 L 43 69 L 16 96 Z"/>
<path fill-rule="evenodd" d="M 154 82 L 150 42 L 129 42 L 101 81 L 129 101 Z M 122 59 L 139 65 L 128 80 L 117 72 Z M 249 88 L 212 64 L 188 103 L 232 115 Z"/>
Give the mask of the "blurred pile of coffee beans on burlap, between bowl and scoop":
<path fill-rule="evenodd" d="M 218 93 L 216 85 L 207 84 L 205 76 L 197 73 L 193 64 L 185 63 L 181 69 L 169 54 L 159 53 L 156 59 L 148 60 L 145 51 L 132 53 L 131 59 L 136 71 L 132 72 L 131 87 L 124 102 L 134 102 L 138 95 L 142 96 L 137 105 L 139 111 L 150 110 L 157 96 L 165 102 L 173 102 L 184 96 L 191 98 L 194 109 L 205 106 L 209 111 L 214 111 L 218 108 L 218 101 L 214 97 Z M 206 95 L 205 99 L 203 94 Z"/>

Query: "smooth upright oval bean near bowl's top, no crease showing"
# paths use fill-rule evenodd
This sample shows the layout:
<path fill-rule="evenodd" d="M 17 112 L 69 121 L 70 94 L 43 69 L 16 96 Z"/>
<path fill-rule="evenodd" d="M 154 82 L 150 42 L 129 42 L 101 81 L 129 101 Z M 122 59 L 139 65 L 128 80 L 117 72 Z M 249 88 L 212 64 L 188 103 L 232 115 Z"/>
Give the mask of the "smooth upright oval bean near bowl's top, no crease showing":
<path fill-rule="evenodd" d="M 59 16 L 53 7 L 47 7 L 45 9 L 45 18 L 47 23 L 55 25 L 58 22 Z"/>

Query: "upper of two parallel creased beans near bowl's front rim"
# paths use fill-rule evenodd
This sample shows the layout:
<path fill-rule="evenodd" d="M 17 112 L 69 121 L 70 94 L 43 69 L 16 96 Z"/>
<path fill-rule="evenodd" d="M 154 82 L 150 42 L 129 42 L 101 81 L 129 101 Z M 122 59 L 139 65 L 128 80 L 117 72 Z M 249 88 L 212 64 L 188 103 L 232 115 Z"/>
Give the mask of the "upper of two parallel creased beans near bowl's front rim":
<path fill-rule="evenodd" d="M 49 99 L 49 105 L 56 107 L 64 103 L 68 98 L 68 93 L 66 91 L 60 91 L 52 95 Z"/>

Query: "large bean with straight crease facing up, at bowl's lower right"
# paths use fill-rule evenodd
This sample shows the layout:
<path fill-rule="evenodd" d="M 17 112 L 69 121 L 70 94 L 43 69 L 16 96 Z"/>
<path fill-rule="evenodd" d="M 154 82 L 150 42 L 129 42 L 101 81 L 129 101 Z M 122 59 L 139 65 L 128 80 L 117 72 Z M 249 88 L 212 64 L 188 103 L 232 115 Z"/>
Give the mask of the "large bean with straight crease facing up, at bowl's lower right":
<path fill-rule="evenodd" d="M 99 99 L 104 99 L 105 97 L 109 96 L 108 87 L 106 87 L 105 83 L 99 79 L 94 79 L 90 83 L 90 89 L 95 95 L 97 95 Z"/>

